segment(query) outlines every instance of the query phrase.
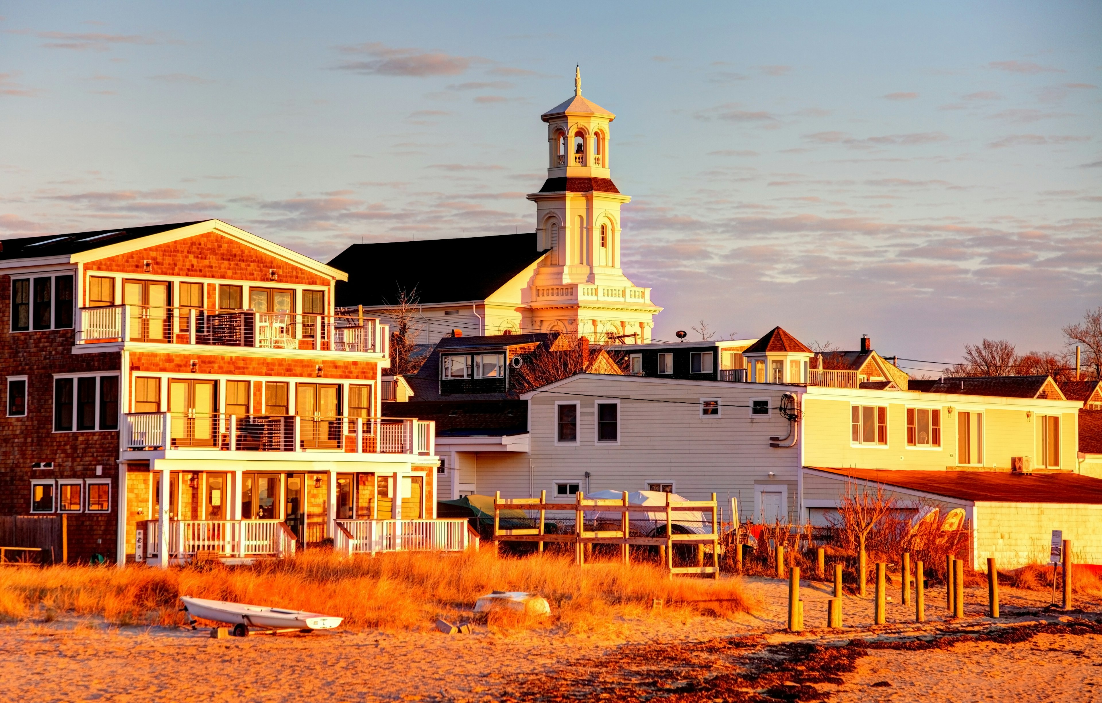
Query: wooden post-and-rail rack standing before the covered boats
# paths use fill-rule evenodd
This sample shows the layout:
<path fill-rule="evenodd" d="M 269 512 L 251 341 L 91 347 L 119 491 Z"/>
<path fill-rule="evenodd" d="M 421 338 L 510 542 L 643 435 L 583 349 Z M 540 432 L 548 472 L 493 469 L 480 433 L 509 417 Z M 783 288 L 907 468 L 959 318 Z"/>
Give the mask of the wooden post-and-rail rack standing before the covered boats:
<path fill-rule="evenodd" d="M 630 560 L 629 545 L 658 547 L 662 562 L 672 574 L 709 574 L 713 578 L 720 577 L 720 526 L 716 520 L 719 504 L 715 494 L 711 500 L 688 500 L 682 502 L 670 502 L 669 494 L 666 495 L 665 505 L 630 505 L 628 493 L 625 490 L 619 499 L 594 499 L 586 498 L 583 491 L 577 491 L 574 502 L 548 502 L 545 490 L 540 491 L 539 498 L 503 498 L 501 491 L 494 494 L 494 549 L 505 542 L 537 542 L 539 551 L 543 552 L 544 542 L 573 542 L 574 561 L 579 565 L 585 565 L 587 555 L 592 554 L 594 544 L 618 544 L 620 548 L 620 560 L 627 564 Z M 538 511 L 536 527 L 503 529 L 501 510 L 532 510 Z M 572 533 L 559 534 L 548 533 L 545 530 L 547 511 L 573 511 L 574 531 Z M 674 534 L 673 513 L 681 511 L 693 511 L 711 515 L 711 532 Z M 618 529 L 585 529 L 586 512 L 618 512 Z M 666 517 L 666 534 L 662 537 L 637 537 L 630 533 L 629 517 L 635 513 L 659 513 Z M 644 517 L 647 517 L 646 515 Z M 609 526 L 595 526 L 609 527 Z M 674 566 L 673 544 L 695 544 L 696 565 Z M 712 564 L 704 565 L 705 545 L 712 545 Z"/>

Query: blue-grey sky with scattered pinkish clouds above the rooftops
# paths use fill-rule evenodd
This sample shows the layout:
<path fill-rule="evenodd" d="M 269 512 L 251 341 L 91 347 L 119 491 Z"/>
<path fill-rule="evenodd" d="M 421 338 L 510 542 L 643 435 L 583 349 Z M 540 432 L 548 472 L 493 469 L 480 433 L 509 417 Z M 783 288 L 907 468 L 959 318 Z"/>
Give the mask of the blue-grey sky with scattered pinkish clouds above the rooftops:
<path fill-rule="evenodd" d="M 623 266 L 666 309 L 657 339 L 781 325 L 940 363 L 983 337 L 1056 350 L 1102 305 L 1098 2 L 0 1 L 0 238 L 217 217 L 326 261 L 532 231 L 540 115 L 580 64 L 617 115 Z"/>

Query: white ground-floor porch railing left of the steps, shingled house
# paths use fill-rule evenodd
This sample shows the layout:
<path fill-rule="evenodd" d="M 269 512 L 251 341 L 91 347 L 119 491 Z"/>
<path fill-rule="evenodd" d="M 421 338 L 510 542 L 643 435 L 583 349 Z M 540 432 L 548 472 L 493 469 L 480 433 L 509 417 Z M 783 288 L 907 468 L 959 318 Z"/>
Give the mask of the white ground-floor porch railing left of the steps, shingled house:
<path fill-rule="evenodd" d="M 159 522 L 145 522 L 147 556 L 160 553 Z M 295 539 L 280 520 L 169 520 L 169 556 L 294 556 Z"/>

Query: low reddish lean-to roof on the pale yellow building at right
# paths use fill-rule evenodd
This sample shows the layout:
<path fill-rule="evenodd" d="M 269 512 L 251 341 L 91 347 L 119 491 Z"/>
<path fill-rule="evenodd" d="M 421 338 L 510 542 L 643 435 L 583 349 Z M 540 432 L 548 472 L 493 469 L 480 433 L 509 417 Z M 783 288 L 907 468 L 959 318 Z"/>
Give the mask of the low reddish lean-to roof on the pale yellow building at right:
<path fill-rule="evenodd" d="M 807 466 L 857 480 L 985 502 L 1076 502 L 1102 505 L 1102 479 L 1081 474 L 1011 472 L 880 471 Z"/>

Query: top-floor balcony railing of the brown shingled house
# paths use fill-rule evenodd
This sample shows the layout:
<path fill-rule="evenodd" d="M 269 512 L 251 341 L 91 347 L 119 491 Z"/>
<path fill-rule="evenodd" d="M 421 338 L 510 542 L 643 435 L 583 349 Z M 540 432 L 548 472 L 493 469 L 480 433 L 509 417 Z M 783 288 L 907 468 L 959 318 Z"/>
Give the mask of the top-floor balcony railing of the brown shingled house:
<path fill-rule="evenodd" d="M 374 317 L 252 310 L 109 305 L 82 307 L 77 344 L 148 342 L 386 354 L 388 325 Z"/>

